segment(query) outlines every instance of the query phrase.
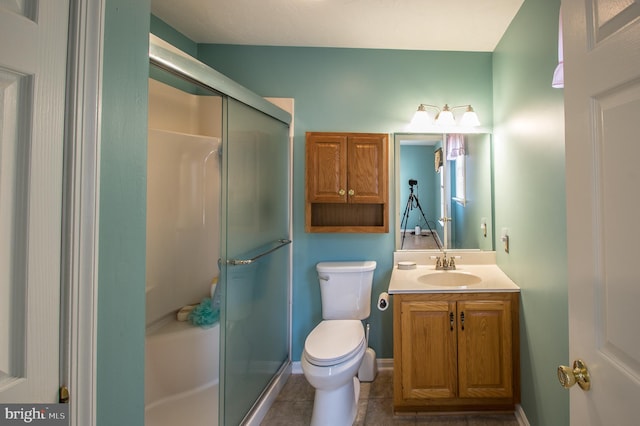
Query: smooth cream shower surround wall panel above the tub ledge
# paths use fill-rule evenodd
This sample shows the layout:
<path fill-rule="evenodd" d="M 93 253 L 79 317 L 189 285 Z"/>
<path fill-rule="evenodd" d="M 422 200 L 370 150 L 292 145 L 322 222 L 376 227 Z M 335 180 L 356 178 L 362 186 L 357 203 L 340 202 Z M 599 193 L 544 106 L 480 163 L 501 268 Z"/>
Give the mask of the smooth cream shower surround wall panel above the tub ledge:
<path fill-rule="evenodd" d="M 149 129 L 147 326 L 199 303 L 219 274 L 211 261 L 220 256 L 219 145 L 211 136 Z"/>

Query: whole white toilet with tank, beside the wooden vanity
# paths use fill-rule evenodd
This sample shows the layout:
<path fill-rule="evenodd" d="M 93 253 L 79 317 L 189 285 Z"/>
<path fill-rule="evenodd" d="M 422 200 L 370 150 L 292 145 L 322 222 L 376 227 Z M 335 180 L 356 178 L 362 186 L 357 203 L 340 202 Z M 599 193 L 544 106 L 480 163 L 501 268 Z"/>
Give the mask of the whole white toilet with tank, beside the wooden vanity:
<path fill-rule="evenodd" d="M 300 364 L 315 388 L 311 425 L 352 425 L 358 410 L 356 377 L 365 351 L 363 319 L 371 311 L 375 261 L 316 265 L 322 321 L 307 336 Z"/>

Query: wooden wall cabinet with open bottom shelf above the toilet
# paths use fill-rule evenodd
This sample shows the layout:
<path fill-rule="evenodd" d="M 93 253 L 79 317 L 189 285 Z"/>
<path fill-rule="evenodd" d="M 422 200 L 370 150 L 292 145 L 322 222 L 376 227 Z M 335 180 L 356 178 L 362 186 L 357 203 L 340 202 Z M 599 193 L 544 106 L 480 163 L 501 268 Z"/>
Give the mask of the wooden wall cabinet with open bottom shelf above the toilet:
<path fill-rule="evenodd" d="M 389 136 L 307 132 L 307 232 L 388 232 Z"/>

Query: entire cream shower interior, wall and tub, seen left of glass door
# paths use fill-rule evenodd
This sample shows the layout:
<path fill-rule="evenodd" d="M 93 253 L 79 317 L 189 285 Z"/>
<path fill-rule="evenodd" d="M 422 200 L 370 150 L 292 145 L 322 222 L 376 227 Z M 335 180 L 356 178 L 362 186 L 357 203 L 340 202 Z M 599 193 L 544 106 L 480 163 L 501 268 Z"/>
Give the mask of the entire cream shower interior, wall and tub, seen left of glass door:
<path fill-rule="evenodd" d="M 189 313 L 219 271 L 219 96 L 149 80 L 145 424 L 218 422 L 219 325 Z M 181 311 L 181 312 L 180 312 Z M 176 314 L 179 312 L 178 314 Z M 184 321 L 178 321 L 182 319 Z"/>

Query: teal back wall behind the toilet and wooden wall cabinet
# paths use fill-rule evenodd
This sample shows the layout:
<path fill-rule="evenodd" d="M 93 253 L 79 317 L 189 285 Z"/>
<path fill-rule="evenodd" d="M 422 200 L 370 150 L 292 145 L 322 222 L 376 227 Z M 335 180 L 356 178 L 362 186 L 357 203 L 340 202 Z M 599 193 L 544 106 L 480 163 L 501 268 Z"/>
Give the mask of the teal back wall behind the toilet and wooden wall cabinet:
<path fill-rule="evenodd" d="M 389 285 L 395 245 L 393 231 L 305 233 L 305 132 L 405 131 L 420 103 L 471 103 L 481 120 L 490 123 L 491 54 L 199 45 L 198 57 L 259 95 L 295 98 L 292 358 L 299 360 L 306 336 L 321 320 L 316 263 L 375 260 L 377 299 Z M 391 179 L 391 206 L 394 188 Z M 399 214 L 391 214 L 391 230 L 397 221 Z M 392 312 L 374 308 L 372 301 L 370 346 L 378 357 L 392 358 Z"/>

